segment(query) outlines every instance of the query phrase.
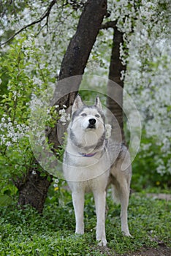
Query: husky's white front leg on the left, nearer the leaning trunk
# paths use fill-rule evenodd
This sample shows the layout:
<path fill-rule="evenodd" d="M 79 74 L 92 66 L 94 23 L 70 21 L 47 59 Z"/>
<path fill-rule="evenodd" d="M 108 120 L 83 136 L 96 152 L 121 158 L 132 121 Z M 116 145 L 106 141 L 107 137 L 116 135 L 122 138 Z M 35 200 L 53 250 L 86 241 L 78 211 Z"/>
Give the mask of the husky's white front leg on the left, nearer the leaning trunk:
<path fill-rule="evenodd" d="M 72 203 L 75 209 L 75 222 L 76 228 L 75 233 L 83 234 L 84 233 L 84 192 L 72 192 Z"/>

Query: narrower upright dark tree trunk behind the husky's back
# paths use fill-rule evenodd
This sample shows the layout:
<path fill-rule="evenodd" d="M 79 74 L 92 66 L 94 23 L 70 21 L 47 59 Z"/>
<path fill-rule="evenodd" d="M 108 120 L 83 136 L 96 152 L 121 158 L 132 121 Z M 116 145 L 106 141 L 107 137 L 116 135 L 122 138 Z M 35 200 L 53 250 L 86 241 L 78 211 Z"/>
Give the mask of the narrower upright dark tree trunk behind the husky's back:
<path fill-rule="evenodd" d="M 113 120 L 109 118 L 109 121 L 113 126 L 112 136 L 118 142 L 124 141 L 123 80 L 121 80 L 121 71 L 125 70 L 126 66 L 123 66 L 120 59 L 120 44 L 122 42 L 123 34 L 115 27 L 113 34 L 113 48 L 110 58 L 110 80 L 107 84 L 107 108 L 113 113 L 114 116 Z"/>

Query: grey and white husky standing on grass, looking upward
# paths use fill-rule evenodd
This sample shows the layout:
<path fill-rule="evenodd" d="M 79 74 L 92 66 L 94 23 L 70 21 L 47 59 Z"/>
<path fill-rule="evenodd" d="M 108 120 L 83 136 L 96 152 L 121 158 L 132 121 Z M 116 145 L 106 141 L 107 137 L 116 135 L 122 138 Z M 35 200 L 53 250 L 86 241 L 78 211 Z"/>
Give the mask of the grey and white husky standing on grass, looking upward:
<path fill-rule="evenodd" d="M 83 104 L 77 95 L 72 106 L 72 118 L 68 127 L 68 138 L 64 152 L 64 176 L 72 190 L 75 209 L 75 233 L 84 233 L 83 210 L 85 192 L 94 194 L 96 206 L 96 240 L 106 246 L 105 208 L 106 189 L 113 184 L 115 199 L 121 202 L 121 230 L 131 236 L 127 224 L 129 186 L 132 169 L 129 154 L 120 143 L 119 150 L 107 138 L 109 124 L 105 124 L 99 97 L 95 105 Z M 122 170 L 123 159 L 128 162 Z"/>

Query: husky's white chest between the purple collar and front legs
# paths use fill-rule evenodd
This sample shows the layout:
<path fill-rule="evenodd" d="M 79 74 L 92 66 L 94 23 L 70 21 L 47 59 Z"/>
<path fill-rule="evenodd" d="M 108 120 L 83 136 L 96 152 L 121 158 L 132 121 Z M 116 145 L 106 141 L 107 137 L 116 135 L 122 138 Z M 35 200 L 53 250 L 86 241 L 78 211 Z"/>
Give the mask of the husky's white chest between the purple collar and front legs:
<path fill-rule="evenodd" d="M 82 157 L 65 153 L 64 176 L 73 189 L 80 187 L 85 191 L 94 190 L 97 186 L 106 187 L 110 165 L 107 166 L 107 153 L 100 152 L 94 157 Z"/>

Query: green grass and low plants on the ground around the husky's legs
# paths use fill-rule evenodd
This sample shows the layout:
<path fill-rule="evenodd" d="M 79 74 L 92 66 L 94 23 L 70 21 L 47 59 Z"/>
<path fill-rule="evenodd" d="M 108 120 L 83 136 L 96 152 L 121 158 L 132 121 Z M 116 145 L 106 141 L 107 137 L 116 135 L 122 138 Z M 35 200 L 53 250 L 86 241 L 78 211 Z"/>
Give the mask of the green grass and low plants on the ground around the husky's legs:
<path fill-rule="evenodd" d="M 120 206 L 115 206 L 110 192 L 106 220 L 107 249 L 96 244 L 94 200 L 86 195 L 85 231 L 75 235 L 75 214 L 69 192 L 50 192 L 43 215 L 33 208 L 24 210 L 15 203 L 0 208 L 0 255 L 122 255 L 142 246 L 170 246 L 171 202 L 133 194 L 129 202 L 129 229 L 133 238 L 121 234 Z"/>

